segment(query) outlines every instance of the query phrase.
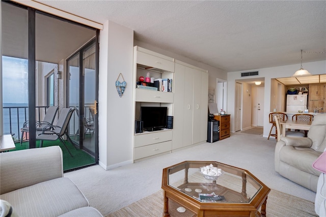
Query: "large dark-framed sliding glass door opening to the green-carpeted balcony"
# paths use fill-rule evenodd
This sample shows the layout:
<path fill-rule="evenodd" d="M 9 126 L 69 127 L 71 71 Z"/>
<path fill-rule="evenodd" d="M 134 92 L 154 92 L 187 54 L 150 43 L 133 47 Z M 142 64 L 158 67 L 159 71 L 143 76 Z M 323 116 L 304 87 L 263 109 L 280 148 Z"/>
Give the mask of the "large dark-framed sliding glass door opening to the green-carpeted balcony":
<path fill-rule="evenodd" d="M 15 150 L 38 148 L 36 121 L 43 120 L 47 107 L 59 106 L 55 125 L 62 108 L 73 107 L 66 144 L 43 146 L 61 146 L 65 171 L 98 163 L 99 31 L 10 1 L 1 6 L 4 133 L 21 141 Z M 29 130 L 22 134 L 25 121 Z"/>

